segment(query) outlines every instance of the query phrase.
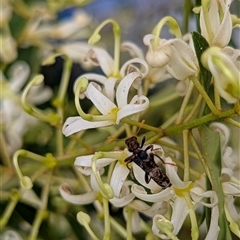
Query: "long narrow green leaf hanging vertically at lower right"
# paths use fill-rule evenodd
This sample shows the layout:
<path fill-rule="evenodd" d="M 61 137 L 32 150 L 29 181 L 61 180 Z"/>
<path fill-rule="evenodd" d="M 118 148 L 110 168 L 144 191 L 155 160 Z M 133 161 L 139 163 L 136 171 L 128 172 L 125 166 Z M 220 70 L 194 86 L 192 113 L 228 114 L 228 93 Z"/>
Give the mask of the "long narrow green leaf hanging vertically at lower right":
<path fill-rule="evenodd" d="M 224 211 L 225 201 L 224 201 L 224 194 L 223 194 L 222 181 L 221 181 L 222 164 L 221 164 L 221 146 L 220 146 L 219 133 L 212 131 L 206 125 L 201 126 L 199 129 L 199 132 L 200 132 L 201 141 L 202 141 L 203 156 L 212 177 L 212 189 L 211 189 L 211 185 L 208 185 L 209 186 L 208 190 L 216 191 L 218 196 L 218 207 L 219 207 L 218 224 L 220 227 L 218 239 L 231 240 L 232 239 L 231 231 L 230 231 L 229 224 Z M 210 219 L 207 219 L 207 224 L 210 224 Z"/>

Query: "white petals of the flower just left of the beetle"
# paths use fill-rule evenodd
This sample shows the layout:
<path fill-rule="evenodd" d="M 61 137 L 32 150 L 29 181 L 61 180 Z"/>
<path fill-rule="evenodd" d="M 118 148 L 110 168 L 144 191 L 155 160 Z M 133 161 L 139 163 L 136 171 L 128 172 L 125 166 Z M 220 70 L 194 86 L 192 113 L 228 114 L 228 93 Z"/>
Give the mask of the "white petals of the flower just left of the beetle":
<path fill-rule="evenodd" d="M 99 158 L 96 161 L 96 170 L 99 177 L 103 174 L 104 168 L 109 164 L 115 162 L 121 158 L 125 158 L 127 155 L 123 151 L 113 151 L 107 154 L 111 154 L 114 157 Z M 97 182 L 92 169 L 92 159 L 94 155 L 87 155 L 77 157 L 74 165 L 84 175 L 90 176 L 92 190 L 88 193 L 73 195 L 71 190 L 66 184 L 60 187 L 60 192 L 64 199 L 74 204 L 88 204 L 97 199 L 98 194 L 101 193 L 101 186 Z M 134 195 L 130 192 L 130 187 L 133 185 L 132 181 L 126 181 L 129 174 L 129 169 L 122 165 L 119 161 L 116 163 L 110 179 L 110 186 L 113 189 L 113 196 L 109 201 L 116 207 L 126 206 L 134 199 Z"/>

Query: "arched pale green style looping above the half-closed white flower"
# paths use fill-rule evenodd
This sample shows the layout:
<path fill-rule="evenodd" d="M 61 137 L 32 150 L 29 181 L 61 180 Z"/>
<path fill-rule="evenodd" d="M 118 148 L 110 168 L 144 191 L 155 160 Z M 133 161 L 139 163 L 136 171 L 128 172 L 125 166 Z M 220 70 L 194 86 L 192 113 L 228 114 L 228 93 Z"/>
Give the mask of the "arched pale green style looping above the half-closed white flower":
<path fill-rule="evenodd" d="M 159 36 L 165 24 L 169 25 L 171 33 L 176 38 L 182 38 L 182 33 L 178 25 L 178 22 L 173 17 L 170 17 L 170 16 L 164 17 L 158 22 L 156 27 L 153 29 L 153 34 L 155 35 L 154 42 L 153 42 L 153 49 L 156 49 L 158 47 Z"/>

